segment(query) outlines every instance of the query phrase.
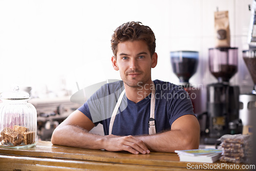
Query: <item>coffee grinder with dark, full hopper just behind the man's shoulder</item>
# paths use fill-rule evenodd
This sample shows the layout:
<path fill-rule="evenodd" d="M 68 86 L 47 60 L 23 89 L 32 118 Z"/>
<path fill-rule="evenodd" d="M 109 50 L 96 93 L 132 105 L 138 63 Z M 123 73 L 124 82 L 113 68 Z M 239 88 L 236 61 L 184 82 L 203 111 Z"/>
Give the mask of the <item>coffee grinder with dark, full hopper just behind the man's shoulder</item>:
<path fill-rule="evenodd" d="M 201 112 L 201 90 L 189 83 L 189 78 L 192 77 L 198 66 L 197 51 L 173 51 L 170 52 L 170 62 L 172 64 L 173 72 L 180 80 L 182 86 L 189 94 L 194 107 L 194 113 Z"/>

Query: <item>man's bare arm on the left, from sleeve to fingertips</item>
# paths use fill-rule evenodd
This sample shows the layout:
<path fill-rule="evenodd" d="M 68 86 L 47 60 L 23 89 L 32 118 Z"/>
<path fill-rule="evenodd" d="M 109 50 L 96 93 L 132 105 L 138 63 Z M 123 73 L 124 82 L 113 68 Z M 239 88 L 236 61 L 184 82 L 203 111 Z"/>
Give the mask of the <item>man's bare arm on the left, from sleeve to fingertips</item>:
<path fill-rule="evenodd" d="M 100 136 L 90 134 L 95 124 L 80 111 L 74 111 L 60 123 L 52 134 L 52 143 L 107 151 L 127 151 L 133 154 L 150 153 L 146 145 L 133 136 Z"/>

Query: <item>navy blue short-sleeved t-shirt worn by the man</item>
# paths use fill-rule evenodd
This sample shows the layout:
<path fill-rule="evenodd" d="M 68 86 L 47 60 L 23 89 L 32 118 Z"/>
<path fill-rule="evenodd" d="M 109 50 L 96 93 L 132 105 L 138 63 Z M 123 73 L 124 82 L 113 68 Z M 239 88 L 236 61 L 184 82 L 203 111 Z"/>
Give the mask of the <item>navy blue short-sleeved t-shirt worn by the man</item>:
<path fill-rule="evenodd" d="M 170 130 L 172 123 L 183 115 L 194 115 L 188 93 L 180 86 L 154 80 L 156 88 L 155 125 L 156 132 Z M 103 125 L 104 134 L 109 135 L 110 119 L 116 102 L 123 91 L 123 81 L 104 84 L 78 110 L 95 125 Z M 148 135 L 151 94 L 135 103 L 124 94 L 119 112 L 113 124 L 113 135 Z"/>

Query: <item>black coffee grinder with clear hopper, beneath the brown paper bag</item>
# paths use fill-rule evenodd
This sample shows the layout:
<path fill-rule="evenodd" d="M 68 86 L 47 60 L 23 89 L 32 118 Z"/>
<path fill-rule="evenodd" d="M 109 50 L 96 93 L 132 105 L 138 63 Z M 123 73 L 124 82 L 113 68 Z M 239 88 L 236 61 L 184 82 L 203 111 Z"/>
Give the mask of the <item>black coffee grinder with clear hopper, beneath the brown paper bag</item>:
<path fill-rule="evenodd" d="M 232 123 L 240 124 L 240 90 L 238 86 L 229 83 L 229 79 L 238 71 L 238 48 L 210 48 L 209 70 L 218 82 L 207 85 L 208 129 L 204 143 L 215 144 L 222 135 L 234 131 Z"/>

